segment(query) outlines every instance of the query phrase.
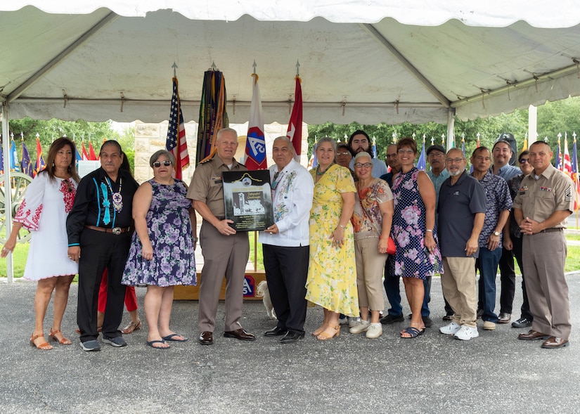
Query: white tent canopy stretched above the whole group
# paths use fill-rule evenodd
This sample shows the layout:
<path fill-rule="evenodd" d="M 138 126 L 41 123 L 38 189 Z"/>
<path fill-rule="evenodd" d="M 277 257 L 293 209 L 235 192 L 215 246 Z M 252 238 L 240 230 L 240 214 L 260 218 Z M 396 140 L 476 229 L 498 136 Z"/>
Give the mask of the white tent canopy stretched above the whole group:
<path fill-rule="evenodd" d="M 477 3 L 471 5 L 470 3 Z M 160 122 L 172 65 L 186 121 L 224 72 L 246 122 L 257 63 L 265 122 L 447 122 L 580 94 L 580 6 L 559 1 L 11 0 L 0 98 L 12 118 Z"/>

